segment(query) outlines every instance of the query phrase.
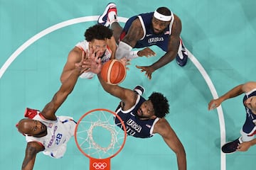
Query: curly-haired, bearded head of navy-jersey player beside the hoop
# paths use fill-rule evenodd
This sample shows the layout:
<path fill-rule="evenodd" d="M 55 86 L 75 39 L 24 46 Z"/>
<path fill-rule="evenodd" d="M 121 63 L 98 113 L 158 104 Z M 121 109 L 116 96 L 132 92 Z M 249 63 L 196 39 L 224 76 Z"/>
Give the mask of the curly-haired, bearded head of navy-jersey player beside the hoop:
<path fill-rule="evenodd" d="M 149 100 L 142 103 L 137 111 L 140 119 L 164 118 L 169 113 L 169 103 L 166 97 L 160 93 L 152 93 Z"/>

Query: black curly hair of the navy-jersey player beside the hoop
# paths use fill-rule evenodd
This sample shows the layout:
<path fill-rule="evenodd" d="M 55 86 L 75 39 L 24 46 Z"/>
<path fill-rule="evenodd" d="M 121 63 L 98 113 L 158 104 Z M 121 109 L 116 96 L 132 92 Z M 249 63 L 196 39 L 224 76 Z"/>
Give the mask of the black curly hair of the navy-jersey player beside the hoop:
<path fill-rule="evenodd" d="M 169 113 L 169 103 L 167 98 L 160 93 L 153 92 L 149 96 L 149 100 L 153 104 L 154 113 L 158 118 L 164 118 Z"/>

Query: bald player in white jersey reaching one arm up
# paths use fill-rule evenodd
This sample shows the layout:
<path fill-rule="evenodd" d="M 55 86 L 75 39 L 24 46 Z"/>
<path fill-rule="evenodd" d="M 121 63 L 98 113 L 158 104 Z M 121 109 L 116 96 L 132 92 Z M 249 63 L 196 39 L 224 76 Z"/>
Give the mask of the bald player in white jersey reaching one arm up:
<path fill-rule="evenodd" d="M 95 55 L 93 50 L 86 52 L 86 57 Z M 75 69 L 70 72 L 68 79 L 63 82 L 53 99 L 43 108 L 43 111 L 35 113 L 26 110 L 25 116 L 28 118 L 23 118 L 17 123 L 18 131 L 26 135 L 27 141 L 22 169 L 33 169 L 38 152 L 44 152 L 50 157 L 63 157 L 66 144 L 74 135 L 75 122 L 67 116 L 58 117 L 55 112 L 73 91 L 80 74 L 87 69 L 82 66 L 82 62 L 85 62 L 84 58 L 85 52 L 82 52 L 82 60 L 75 65 Z"/>

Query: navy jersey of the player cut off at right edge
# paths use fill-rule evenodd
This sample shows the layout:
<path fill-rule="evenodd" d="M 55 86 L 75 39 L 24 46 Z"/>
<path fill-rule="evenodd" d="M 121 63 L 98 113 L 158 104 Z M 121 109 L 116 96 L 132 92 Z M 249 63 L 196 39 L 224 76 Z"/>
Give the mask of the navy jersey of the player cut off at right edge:
<path fill-rule="evenodd" d="M 253 91 L 250 91 L 245 94 L 243 98 L 243 103 L 247 98 L 250 98 L 251 96 L 256 96 L 256 89 L 253 89 Z M 252 134 L 255 131 L 256 127 L 256 115 L 252 113 L 252 110 L 250 108 L 247 108 L 245 106 L 245 111 L 246 111 L 246 120 L 245 124 L 242 126 L 242 131 L 246 132 L 247 134 Z"/>

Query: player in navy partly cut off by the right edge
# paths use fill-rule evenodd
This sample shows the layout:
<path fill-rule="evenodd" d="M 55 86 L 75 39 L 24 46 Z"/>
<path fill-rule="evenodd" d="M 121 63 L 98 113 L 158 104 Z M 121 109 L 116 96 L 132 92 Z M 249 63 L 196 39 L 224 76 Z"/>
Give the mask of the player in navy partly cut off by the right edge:
<path fill-rule="evenodd" d="M 245 152 L 252 145 L 256 144 L 256 82 L 247 82 L 235 86 L 220 98 L 210 101 L 208 109 L 217 108 L 220 104 L 228 98 L 234 98 L 240 94 L 245 93 L 242 100 L 245 106 L 246 118 L 245 123 L 240 130 L 241 136 L 233 142 L 228 142 L 221 148 L 224 153 L 233 153 L 236 151 Z"/>

